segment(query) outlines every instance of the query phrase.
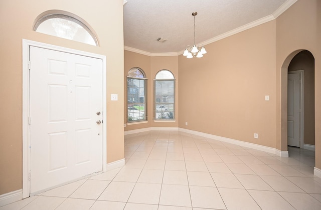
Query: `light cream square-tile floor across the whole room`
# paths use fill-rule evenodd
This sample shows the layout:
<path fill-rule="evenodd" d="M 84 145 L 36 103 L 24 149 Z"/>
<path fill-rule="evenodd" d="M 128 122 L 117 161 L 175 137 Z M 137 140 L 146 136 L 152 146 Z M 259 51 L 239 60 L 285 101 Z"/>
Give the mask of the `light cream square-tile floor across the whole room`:
<path fill-rule="evenodd" d="M 314 152 L 289 157 L 179 131 L 125 136 L 122 168 L 0 209 L 321 209 Z"/>

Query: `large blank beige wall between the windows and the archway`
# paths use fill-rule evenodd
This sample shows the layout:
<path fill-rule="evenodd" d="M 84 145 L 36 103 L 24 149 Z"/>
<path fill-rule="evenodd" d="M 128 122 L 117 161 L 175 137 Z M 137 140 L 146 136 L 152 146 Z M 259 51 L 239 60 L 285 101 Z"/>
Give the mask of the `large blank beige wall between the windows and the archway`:
<path fill-rule="evenodd" d="M 275 21 L 206 49 L 179 58 L 179 127 L 275 148 Z"/>

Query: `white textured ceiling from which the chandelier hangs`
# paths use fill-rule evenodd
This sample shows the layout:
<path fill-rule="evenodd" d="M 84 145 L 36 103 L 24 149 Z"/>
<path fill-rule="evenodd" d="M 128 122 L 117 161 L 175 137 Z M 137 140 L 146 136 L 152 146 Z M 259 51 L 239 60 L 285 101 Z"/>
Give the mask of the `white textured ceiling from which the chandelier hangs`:
<path fill-rule="evenodd" d="M 194 44 L 209 44 L 275 19 L 296 0 L 127 0 L 125 49 L 179 54 Z M 164 43 L 156 41 L 162 37 Z"/>

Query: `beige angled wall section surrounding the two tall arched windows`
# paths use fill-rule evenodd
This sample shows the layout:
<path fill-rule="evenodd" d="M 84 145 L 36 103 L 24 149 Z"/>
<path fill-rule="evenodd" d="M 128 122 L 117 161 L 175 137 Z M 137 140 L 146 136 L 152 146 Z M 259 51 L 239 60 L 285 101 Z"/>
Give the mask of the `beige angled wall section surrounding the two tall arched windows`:
<path fill-rule="evenodd" d="M 128 71 L 133 67 L 139 67 L 145 73 L 147 81 L 147 123 L 129 123 L 127 124 L 127 85 L 126 78 Z M 164 122 L 161 120 L 153 120 L 154 112 L 154 96 L 153 96 L 153 79 L 158 71 L 167 69 L 170 70 L 176 79 L 176 96 L 175 96 L 175 118 L 174 122 Z M 177 56 L 158 56 L 150 57 L 130 51 L 124 51 L 124 123 L 126 123 L 125 131 L 149 128 L 149 127 L 178 127 L 178 118 L 179 118 L 179 102 L 178 102 L 178 90 L 179 90 L 179 72 L 178 72 L 178 57 Z"/>

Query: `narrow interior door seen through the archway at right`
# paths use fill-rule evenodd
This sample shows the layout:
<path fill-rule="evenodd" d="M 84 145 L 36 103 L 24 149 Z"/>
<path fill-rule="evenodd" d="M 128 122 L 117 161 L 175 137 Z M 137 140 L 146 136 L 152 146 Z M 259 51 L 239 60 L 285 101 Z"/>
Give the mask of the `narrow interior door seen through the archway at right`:
<path fill-rule="evenodd" d="M 300 147 L 300 73 L 287 78 L 287 145 Z"/>

